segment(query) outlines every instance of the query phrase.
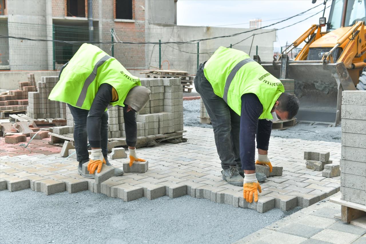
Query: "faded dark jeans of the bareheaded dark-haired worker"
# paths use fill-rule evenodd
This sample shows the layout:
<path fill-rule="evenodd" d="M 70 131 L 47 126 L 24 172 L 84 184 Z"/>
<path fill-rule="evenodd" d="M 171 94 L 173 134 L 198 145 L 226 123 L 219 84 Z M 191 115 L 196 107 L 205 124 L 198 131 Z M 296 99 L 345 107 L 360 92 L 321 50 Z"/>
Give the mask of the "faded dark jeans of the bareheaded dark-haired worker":
<path fill-rule="evenodd" d="M 194 86 L 211 119 L 221 167 L 228 169 L 235 166 L 242 170 L 239 152 L 240 116 L 213 92 L 212 85 L 203 74 L 204 65 L 205 63 L 199 65 Z"/>

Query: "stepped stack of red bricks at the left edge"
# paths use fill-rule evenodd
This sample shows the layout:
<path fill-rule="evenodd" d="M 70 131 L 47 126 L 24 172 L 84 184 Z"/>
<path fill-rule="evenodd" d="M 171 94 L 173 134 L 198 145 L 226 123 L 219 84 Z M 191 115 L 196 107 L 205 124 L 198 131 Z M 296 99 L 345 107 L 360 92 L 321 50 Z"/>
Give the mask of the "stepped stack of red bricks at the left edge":
<path fill-rule="evenodd" d="M 0 118 L 5 117 L 5 112 L 27 110 L 28 92 L 37 90 L 34 74 L 28 74 L 27 76 L 28 81 L 19 82 L 18 90 L 10 90 L 9 93 L 0 95 Z"/>

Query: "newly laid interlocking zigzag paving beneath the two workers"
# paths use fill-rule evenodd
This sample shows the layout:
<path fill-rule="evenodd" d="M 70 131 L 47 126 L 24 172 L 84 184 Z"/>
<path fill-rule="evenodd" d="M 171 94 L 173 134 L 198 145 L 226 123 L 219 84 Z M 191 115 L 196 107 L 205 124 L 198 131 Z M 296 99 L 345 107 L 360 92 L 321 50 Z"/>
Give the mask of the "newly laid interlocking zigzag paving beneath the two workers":
<path fill-rule="evenodd" d="M 12 191 L 31 188 L 47 195 L 89 189 L 125 201 L 143 196 L 154 199 L 187 194 L 259 212 L 272 208 L 287 211 L 296 206 L 307 207 L 340 189 L 340 177 L 322 177 L 321 171 L 307 169 L 303 160 L 303 151 L 323 150 L 330 152 L 333 163 L 339 163 L 340 143 L 273 137 L 270 139 L 269 157 L 274 166 L 284 168 L 283 175 L 268 177 L 261 184 L 258 202 L 246 203 L 242 197 L 243 188 L 229 185 L 221 178 L 213 130 L 200 127 L 185 129 L 187 143 L 138 149 L 139 156 L 149 160 L 146 173 L 125 173 L 98 185 L 94 180 L 78 175 L 78 162 L 61 158 L 61 148 L 49 145 L 49 139 L 33 140 L 29 152 L 27 148 L 5 144 L 1 138 L 1 187 L 3 189 L 6 185 Z M 125 161 L 110 162 L 115 167 L 122 167 Z"/>

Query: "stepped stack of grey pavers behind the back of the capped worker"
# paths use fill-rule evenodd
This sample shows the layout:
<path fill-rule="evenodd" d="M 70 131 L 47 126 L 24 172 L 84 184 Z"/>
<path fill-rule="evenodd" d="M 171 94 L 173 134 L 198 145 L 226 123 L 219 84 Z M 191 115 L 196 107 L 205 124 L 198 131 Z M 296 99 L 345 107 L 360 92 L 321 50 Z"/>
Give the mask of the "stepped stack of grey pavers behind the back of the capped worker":
<path fill-rule="evenodd" d="M 41 77 L 37 83 L 38 92 L 29 92 L 29 106 L 27 115 L 33 119 L 42 118 L 66 118 L 66 103 L 51 101 L 48 99 L 53 87 L 55 87 L 59 77 Z"/>

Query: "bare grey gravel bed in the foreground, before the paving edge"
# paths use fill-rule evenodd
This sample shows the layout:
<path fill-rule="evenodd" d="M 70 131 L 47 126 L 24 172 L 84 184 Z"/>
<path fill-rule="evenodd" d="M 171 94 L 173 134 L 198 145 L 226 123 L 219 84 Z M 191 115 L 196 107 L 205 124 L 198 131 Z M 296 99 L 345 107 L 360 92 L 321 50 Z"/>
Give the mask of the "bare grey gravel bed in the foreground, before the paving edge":
<path fill-rule="evenodd" d="M 131 202 L 89 191 L 0 192 L 0 243 L 232 243 L 291 214 L 206 199 Z"/>

